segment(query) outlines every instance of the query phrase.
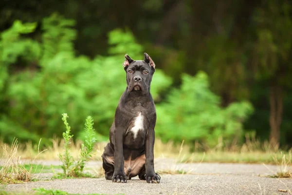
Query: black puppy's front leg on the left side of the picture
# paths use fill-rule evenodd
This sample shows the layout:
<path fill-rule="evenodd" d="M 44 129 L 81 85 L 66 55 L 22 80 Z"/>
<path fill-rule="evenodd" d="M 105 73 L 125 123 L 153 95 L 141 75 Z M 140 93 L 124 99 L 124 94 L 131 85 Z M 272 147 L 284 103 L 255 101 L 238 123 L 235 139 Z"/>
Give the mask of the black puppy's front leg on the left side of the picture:
<path fill-rule="evenodd" d="M 118 183 L 127 183 L 127 176 L 124 172 L 123 139 L 123 129 L 116 127 L 114 132 L 114 172 L 112 181 Z"/>

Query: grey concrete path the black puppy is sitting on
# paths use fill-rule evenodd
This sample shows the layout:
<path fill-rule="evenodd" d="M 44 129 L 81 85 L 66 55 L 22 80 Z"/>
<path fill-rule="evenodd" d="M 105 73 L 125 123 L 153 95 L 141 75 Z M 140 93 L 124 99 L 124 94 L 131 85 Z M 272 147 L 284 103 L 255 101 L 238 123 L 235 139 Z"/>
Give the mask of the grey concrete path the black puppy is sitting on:
<path fill-rule="evenodd" d="M 45 161 L 45 164 L 59 164 Z M 98 168 L 91 161 L 88 167 Z M 170 159 L 157 159 L 156 170 L 184 170 L 187 174 L 161 174 L 160 184 L 148 184 L 134 177 L 128 183 L 113 183 L 105 178 L 55 179 L 24 184 L 10 184 L 7 191 L 31 191 L 32 188 L 58 189 L 72 194 L 125 195 L 289 195 L 292 179 L 270 178 L 277 167 L 262 164 L 190 163 L 174 164 Z M 50 174 L 41 175 L 42 178 Z M 287 192 L 279 192 L 286 190 Z M 292 194 L 291 194 L 292 195 Z"/>

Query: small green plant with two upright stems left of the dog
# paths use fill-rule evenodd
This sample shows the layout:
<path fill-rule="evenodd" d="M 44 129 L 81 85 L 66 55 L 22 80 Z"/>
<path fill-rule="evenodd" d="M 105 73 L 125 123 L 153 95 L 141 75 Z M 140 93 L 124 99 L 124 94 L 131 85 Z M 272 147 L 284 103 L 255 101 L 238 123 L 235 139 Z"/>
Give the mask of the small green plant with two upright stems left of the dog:
<path fill-rule="evenodd" d="M 91 158 L 93 154 L 93 147 L 95 143 L 95 132 L 93 129 L 93 119 L 91 116 L 88 116 L 85 121 L 85 141 L 82 144 L 81 151 L 79 154 L 78 161 L 73 159 L 73 156 L 70 154 L 70 144 L 71 138 L 71 127 L 67 122 L 68 115 L 64 113 L 62 115 L 62 120 L 64 121 L 66 131 L 63 133 L 64 138 L 64 154 L 59 154 L 59 158 L 62 161 L 62 170 L 64 177 L 80 177 L 86 176 L 83 174 L 83 169 L 85 167 L 86 162 Z"/>

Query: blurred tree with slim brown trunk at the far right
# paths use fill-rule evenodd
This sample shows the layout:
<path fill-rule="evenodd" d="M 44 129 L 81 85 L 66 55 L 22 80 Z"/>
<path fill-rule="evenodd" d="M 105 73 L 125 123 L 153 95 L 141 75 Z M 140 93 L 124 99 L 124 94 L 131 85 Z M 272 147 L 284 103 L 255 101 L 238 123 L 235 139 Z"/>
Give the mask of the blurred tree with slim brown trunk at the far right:
<path fill-rule="evenodd" d="M 267 0 L 256 10 L 253 64 L 257 79 L 269 88 L 270 142 L 278 144 L 283 96 L 292 88 L 292 6 L 287 0 Z"/>

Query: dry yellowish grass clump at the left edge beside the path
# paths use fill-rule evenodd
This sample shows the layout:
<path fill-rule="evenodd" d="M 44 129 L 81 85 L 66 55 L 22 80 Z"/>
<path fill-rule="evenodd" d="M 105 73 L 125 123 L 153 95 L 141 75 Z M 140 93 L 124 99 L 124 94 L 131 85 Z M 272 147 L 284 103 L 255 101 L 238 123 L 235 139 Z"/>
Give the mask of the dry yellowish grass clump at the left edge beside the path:
<path fill-rule="evenodd" d="M 3 144 L 2 152 L 3 156 L 0 161 L 1 164 L 0 184 L 20 183 L 25 181 L 32 181 L 36 178 L 33 177 L 33 174 L 35 174 L 33 170 L 33 162 L 36 160 L 37 156 L 31 160 L 31 166 L 29 169 L 27 169 L 25 165 L 21 163 L 20 156 L 17 155 L 18 152 L 17 139 L 13 140 L 11 147 L 8 147 L 6 144 Z M 43 151 L 39 152 L 38 147 L 38 154 L 41 154 L 42 152 Z"/>

